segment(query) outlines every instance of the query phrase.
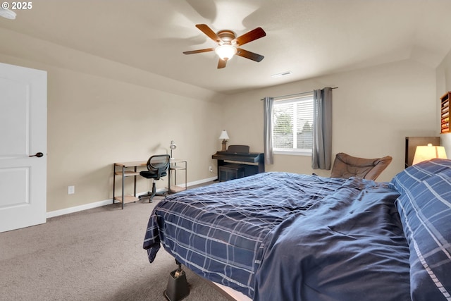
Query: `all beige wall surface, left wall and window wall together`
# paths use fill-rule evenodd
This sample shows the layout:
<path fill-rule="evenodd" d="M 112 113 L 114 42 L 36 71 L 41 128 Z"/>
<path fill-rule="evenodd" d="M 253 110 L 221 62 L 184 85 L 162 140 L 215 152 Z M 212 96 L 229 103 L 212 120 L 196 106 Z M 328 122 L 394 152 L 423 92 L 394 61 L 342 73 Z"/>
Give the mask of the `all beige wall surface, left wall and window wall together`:
<path fill-rule="evenodd" d="M 228 130 L 228 145 L 263 152 L 260 99 L 325 86 L 338 87 L 333 155 L 389 154 L 393 163 L 379 180 L 390 180 L 403 168 L 404 137 L 437 135 L 436 90 L 451 89 L 448 55 L 438 69 L 446 75 L 443 87 L 435 69 L 401 61 L 224 97 L 7 30 L 0 37 L 11 41 L 0 45 L 1 62 L 48 72 L 47 211 L 111 199 L 113 162 L 168 152 L 171 140 L 178 145 L 175 156 L 188 160 L 189 183 L 214 177 L 211 154 L 221 147 L 221 130 Z M 328 176 L 313 171 L 310 161 L 276 155 L 266 170 Z M 67 194 L 68 185 L 75 185 L 75 195 Z M 149 181 L 140 179 L 138 192 L 148 188 Z"/>

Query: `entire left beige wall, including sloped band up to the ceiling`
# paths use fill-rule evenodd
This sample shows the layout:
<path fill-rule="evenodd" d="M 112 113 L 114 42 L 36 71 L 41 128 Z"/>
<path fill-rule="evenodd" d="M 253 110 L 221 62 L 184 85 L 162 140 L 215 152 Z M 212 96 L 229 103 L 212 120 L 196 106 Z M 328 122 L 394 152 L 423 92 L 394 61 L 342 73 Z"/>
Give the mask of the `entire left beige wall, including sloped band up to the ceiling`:
<path fill-rule="evenodd" d="M 169 152 L 171 140 L 174 156 L 188 161 L 188 183 L 216 176 L 209 166 L 221 147 L 222 95 L 4 30 L 0 37 L 11 40 L 1 62 L 47 70 L 47 212 L 111 199 L 113 162 Z M 150 183 L 139 178 L 137 191 Z"/>

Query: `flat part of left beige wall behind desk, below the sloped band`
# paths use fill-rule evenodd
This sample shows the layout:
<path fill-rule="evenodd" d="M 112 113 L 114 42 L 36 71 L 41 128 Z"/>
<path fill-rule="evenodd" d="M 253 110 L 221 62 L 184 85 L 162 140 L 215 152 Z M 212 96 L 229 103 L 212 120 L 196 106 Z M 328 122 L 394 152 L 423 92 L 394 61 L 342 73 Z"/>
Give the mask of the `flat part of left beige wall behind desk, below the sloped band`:
<path fill-rule="evenodd" d="M 113 162 L 166 154 L 171 140 L 174 156 L 188 160 L 189 182 L 212 176 L 218 104 L 68 70 L 48 80 L 49 211 L 111 198 Z M 149 180 L 138 183 L 148 190 Z"/>

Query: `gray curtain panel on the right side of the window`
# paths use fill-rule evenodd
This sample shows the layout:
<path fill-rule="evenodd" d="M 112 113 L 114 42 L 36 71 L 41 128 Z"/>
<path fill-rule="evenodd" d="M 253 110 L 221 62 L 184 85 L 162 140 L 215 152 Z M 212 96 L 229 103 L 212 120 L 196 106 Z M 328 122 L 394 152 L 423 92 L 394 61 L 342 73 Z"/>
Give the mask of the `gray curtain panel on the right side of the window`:
<path fill-rule="evenodd" d="M 313 149 L 311 168 L 330 169 L 332 160 L 332 88 L 313 92 Z"/>

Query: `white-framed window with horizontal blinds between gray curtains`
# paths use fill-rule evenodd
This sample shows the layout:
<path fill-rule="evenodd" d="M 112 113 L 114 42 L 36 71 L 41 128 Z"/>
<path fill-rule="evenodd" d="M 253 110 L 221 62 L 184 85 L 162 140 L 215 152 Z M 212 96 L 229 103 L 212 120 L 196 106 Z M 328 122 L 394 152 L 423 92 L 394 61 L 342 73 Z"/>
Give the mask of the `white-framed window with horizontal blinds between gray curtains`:
<path fill-rule="evenodd" d="M 311 154 L 313 148 L 313 94 L 275 100 L 273 150 L 279 154 Z"/>

